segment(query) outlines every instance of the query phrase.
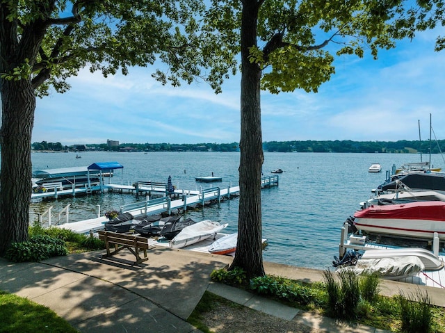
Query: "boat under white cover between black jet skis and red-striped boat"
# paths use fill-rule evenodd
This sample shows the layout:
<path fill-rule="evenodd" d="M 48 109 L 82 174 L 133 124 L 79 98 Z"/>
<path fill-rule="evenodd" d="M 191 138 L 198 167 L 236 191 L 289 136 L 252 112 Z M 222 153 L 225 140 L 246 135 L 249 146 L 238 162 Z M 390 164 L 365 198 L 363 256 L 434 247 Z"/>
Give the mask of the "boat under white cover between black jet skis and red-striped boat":
<path fill-rule="evenodd" d="M 204 239 L 215 237 L 215 235 L 227 227 L 227 225 L 227 223 L 220 225 L 219 222 L 211 220 L 197 222 L 194 225 L 182 229 L 168 244 L 175 249 L 191 245 Z"/>

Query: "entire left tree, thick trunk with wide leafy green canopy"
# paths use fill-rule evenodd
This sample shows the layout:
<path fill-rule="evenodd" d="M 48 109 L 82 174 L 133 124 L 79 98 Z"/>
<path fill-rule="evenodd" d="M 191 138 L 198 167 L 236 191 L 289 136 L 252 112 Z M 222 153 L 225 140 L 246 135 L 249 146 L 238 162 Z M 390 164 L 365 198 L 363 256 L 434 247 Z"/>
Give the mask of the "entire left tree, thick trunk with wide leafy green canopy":
<path fill-rule="evenodd" d="M 83 67 L 108 76 L 147 65 L 163 84 L 200 79 L 220 92 L 237 51 L 203 26 L 205 9 L 200 0 L 0 0 L 0 254 L 27 238 L 35 97 L 65 92 Z"/>

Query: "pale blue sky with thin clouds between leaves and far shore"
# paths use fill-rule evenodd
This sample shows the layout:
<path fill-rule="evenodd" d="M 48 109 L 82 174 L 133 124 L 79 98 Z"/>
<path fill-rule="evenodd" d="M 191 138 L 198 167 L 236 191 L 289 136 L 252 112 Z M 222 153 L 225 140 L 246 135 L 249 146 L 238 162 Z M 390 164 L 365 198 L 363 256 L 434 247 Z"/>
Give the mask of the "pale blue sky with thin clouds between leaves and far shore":
<path fill-rule="evenodd" d="M 432 128 L 445 139 L 445 51 L 440 31 L 420 33 L 396 49 L 336 58 L 336 74 L 318 93 L 261 92 L 263 141 L 422 140 Z M 442 29 L 442 34 L 443 29 Z M 240 138 L 240 76 L 215 95 L 207 83 L 161 86 L 154 67 L 104 79 L 88 69 L 69 79 L 65 94 L 37 100 L 33 142 L 232 143 Z M 433 137 L 434 138 L 434 137 Z"/>

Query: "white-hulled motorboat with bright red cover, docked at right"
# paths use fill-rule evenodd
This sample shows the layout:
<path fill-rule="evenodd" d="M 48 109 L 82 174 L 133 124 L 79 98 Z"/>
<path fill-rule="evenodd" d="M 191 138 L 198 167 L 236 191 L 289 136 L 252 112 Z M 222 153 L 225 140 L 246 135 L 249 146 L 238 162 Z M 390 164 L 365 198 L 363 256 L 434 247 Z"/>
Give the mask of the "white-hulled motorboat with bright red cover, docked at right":
<path fill-rule="evenodd" d="M 354 225 L 369 234 L 445 239 L 445 202 L 372 205 L 354 213 Z"/>

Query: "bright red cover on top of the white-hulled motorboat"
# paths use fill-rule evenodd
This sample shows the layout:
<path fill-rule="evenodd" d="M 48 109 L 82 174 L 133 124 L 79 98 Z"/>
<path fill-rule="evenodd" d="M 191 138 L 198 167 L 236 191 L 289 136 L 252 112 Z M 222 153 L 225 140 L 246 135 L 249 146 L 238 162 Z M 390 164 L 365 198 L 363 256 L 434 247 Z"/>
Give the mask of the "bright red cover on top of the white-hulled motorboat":
<path fill-rule="evenodd" d="M 445 202 L 410 202 L 370 206 L 354 213 L 355 218 L 445 221 Z"/>

